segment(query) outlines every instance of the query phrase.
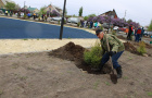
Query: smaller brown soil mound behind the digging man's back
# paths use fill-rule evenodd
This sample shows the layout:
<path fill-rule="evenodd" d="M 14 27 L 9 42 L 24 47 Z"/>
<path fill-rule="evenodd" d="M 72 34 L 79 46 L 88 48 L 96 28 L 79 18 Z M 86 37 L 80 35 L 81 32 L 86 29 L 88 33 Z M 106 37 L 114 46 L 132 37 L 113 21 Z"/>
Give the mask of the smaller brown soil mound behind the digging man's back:
<path fill-rule="evenodd" d="M 127 41 L 127 42 L 124 42 L 124 46 L 125 46 L 126 51 L 130 51 L 131 53 L 138 54 L 137 48 L 132 44 Z"/>

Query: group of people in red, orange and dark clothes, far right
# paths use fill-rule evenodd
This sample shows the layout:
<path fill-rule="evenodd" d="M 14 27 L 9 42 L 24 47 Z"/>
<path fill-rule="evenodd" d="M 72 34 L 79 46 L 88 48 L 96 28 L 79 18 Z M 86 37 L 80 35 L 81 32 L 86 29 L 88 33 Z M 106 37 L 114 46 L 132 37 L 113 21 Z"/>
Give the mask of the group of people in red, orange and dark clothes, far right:
<path fill-rule="evenodd" d="M 143 27 L 135 28 L 132 25 L 130 25 L 129 28 L 126 30 L 128 32 L 127 40 L 131 40 L 132 39 L 131 36 L 135 35 L 135 41 L 137 42 L 139 42 L 142 39 L 143 33 L 144 33 Z"/>

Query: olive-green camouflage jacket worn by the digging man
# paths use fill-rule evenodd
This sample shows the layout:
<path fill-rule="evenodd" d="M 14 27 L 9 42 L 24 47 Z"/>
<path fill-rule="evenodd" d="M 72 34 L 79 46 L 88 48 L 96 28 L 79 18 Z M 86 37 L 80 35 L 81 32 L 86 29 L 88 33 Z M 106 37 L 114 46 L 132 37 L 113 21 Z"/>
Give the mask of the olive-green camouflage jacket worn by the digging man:
<path fill-rule="evenodd" d="M 119 52 L 125 50 L 124 44 L 116 36 L 111 34 L 106 34 L 106 36 L 111 51 Z M 103 39 L 101 40 L 101 46 L 104 52 L 107 51 L 106 36 L 104 35 Z"/>

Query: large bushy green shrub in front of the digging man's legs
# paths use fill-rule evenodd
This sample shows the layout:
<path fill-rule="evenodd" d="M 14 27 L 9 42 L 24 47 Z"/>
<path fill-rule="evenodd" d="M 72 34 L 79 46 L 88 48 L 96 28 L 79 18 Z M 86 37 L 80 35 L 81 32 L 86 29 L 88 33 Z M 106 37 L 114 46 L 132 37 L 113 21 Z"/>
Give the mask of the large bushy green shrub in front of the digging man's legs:
<path fill-rule="evenodd" d="M 91 50 L 86 50 L 84 52 L 84 60 L 87 64 L 91 68 L 97 69 L 99 68 L 102 59 L 102 48 L 99 41 L 96 41 L 94 46 L 91 47 Z"/>

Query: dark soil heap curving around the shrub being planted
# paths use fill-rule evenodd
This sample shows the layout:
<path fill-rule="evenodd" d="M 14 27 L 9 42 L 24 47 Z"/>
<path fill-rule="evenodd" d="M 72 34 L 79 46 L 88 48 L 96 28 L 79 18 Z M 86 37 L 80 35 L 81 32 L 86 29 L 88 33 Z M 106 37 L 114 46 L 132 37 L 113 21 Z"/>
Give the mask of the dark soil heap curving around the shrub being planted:
<path fill-rule="evenodd" d="M 111 66 L 109 63 L 106 63 L 106 65 L 104 65 L 103 71 L 102 72 L 94 72 L 91 70 L 90 65 L 88 65 L 87 63 L 85 63 L 84 61 L 84 51 L 86 50 L 86 48 L 79 46 L 79 45 L 75 45 L 74 42 L 68 42 L 65 46 L 50 51 L 49 56 L 53 56 L 56 58 L 61 58 L 64 60 L 69 60 L 69 61 L 74 61 L 75 64 L 77 65 L 77 68 L 81 69 L 83 71 L 87 71 L 88 73 L 92 73 L 92 74 L 105 74 L 105 73 L 110 73 L 111 72 Z"/>

